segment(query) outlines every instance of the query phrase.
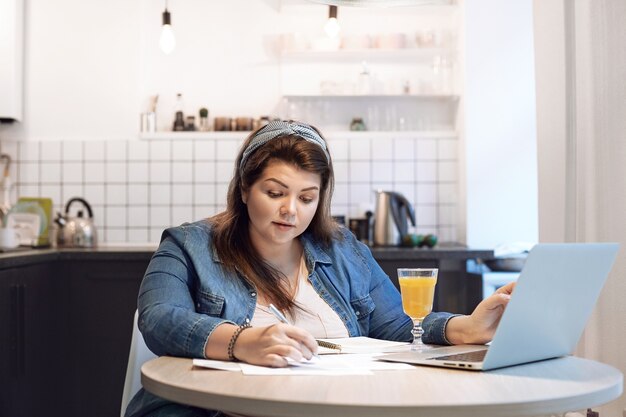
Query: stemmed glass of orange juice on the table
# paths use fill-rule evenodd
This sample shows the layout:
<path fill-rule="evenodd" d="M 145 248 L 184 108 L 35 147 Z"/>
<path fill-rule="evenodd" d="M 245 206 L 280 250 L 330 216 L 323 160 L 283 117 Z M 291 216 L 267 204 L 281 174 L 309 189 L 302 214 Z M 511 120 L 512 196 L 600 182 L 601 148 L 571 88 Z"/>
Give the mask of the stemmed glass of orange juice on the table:
<path fill-rule="evenodd" d="M 413 320 L 413 350 L 424 347 L 422 321 L 433 310 L 437 268 L 398 268 L 402 308 Z"/>

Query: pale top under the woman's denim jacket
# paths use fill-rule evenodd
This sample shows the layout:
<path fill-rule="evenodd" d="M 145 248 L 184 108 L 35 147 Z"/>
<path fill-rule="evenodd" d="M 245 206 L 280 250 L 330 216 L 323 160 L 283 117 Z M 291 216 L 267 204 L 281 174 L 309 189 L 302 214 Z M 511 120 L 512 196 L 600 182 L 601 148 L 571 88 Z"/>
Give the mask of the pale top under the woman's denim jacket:
<path fill-rule="evenodd" d="M 296 309 L 292 324 L 308 330 L 316 339 L 349 337 L 345 324 L 315 291 L 308 275 L 309 271 L 302 257 L 295 296 L 295 302 L 301 308 Z M 250 324 L 253 327 L 267 327 L 276 323 L 280 323 L 280 320 L 270 312 L 268 306 L 257 303 Z"/>

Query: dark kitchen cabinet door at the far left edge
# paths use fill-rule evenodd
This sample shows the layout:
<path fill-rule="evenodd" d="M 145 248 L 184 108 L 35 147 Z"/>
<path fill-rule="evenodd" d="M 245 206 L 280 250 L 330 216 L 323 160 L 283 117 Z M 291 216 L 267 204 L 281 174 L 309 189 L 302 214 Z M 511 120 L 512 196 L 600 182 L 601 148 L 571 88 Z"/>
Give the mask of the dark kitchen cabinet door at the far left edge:
<path fill-rule="evenodd" d="M 0 270 L 0 416 L 63 416 L 64 279 L 56 262 Z"/>

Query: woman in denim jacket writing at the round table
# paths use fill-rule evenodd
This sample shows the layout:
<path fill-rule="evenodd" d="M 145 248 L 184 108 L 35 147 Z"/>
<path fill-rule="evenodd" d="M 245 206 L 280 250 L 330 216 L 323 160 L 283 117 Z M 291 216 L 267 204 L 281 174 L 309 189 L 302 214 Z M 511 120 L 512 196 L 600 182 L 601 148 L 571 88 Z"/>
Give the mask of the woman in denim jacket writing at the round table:
<path fill-rule="evenodd" d="M 139 328 L 157 355 L 282 367 L 315 338 L 412 340 L 400 295 L 369 249 L 330 216 L 332 160 L 317 129 L 275 121 L 243 144 L 226 211 L 166 230 L 139 292 Z M 471 316 L 432 313 L 424 342 L 485 343 L 512 287 Z M 274 304 L 293 325 L 279 323 Z M 128 416 L 218 416 L 141 390 Z"/>

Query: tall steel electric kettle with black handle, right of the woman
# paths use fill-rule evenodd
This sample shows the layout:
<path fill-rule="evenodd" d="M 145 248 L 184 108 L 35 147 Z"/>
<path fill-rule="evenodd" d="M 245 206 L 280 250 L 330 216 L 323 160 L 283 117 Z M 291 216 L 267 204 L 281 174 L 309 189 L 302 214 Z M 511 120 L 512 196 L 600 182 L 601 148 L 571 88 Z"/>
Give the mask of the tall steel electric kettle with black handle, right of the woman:
<path fill-rule="evenodd" d="M 415 226 L 413 206 L 402 194 L 376 190 L 374 245 L 398 246 L 408 233 L 408 220 Z"/>

